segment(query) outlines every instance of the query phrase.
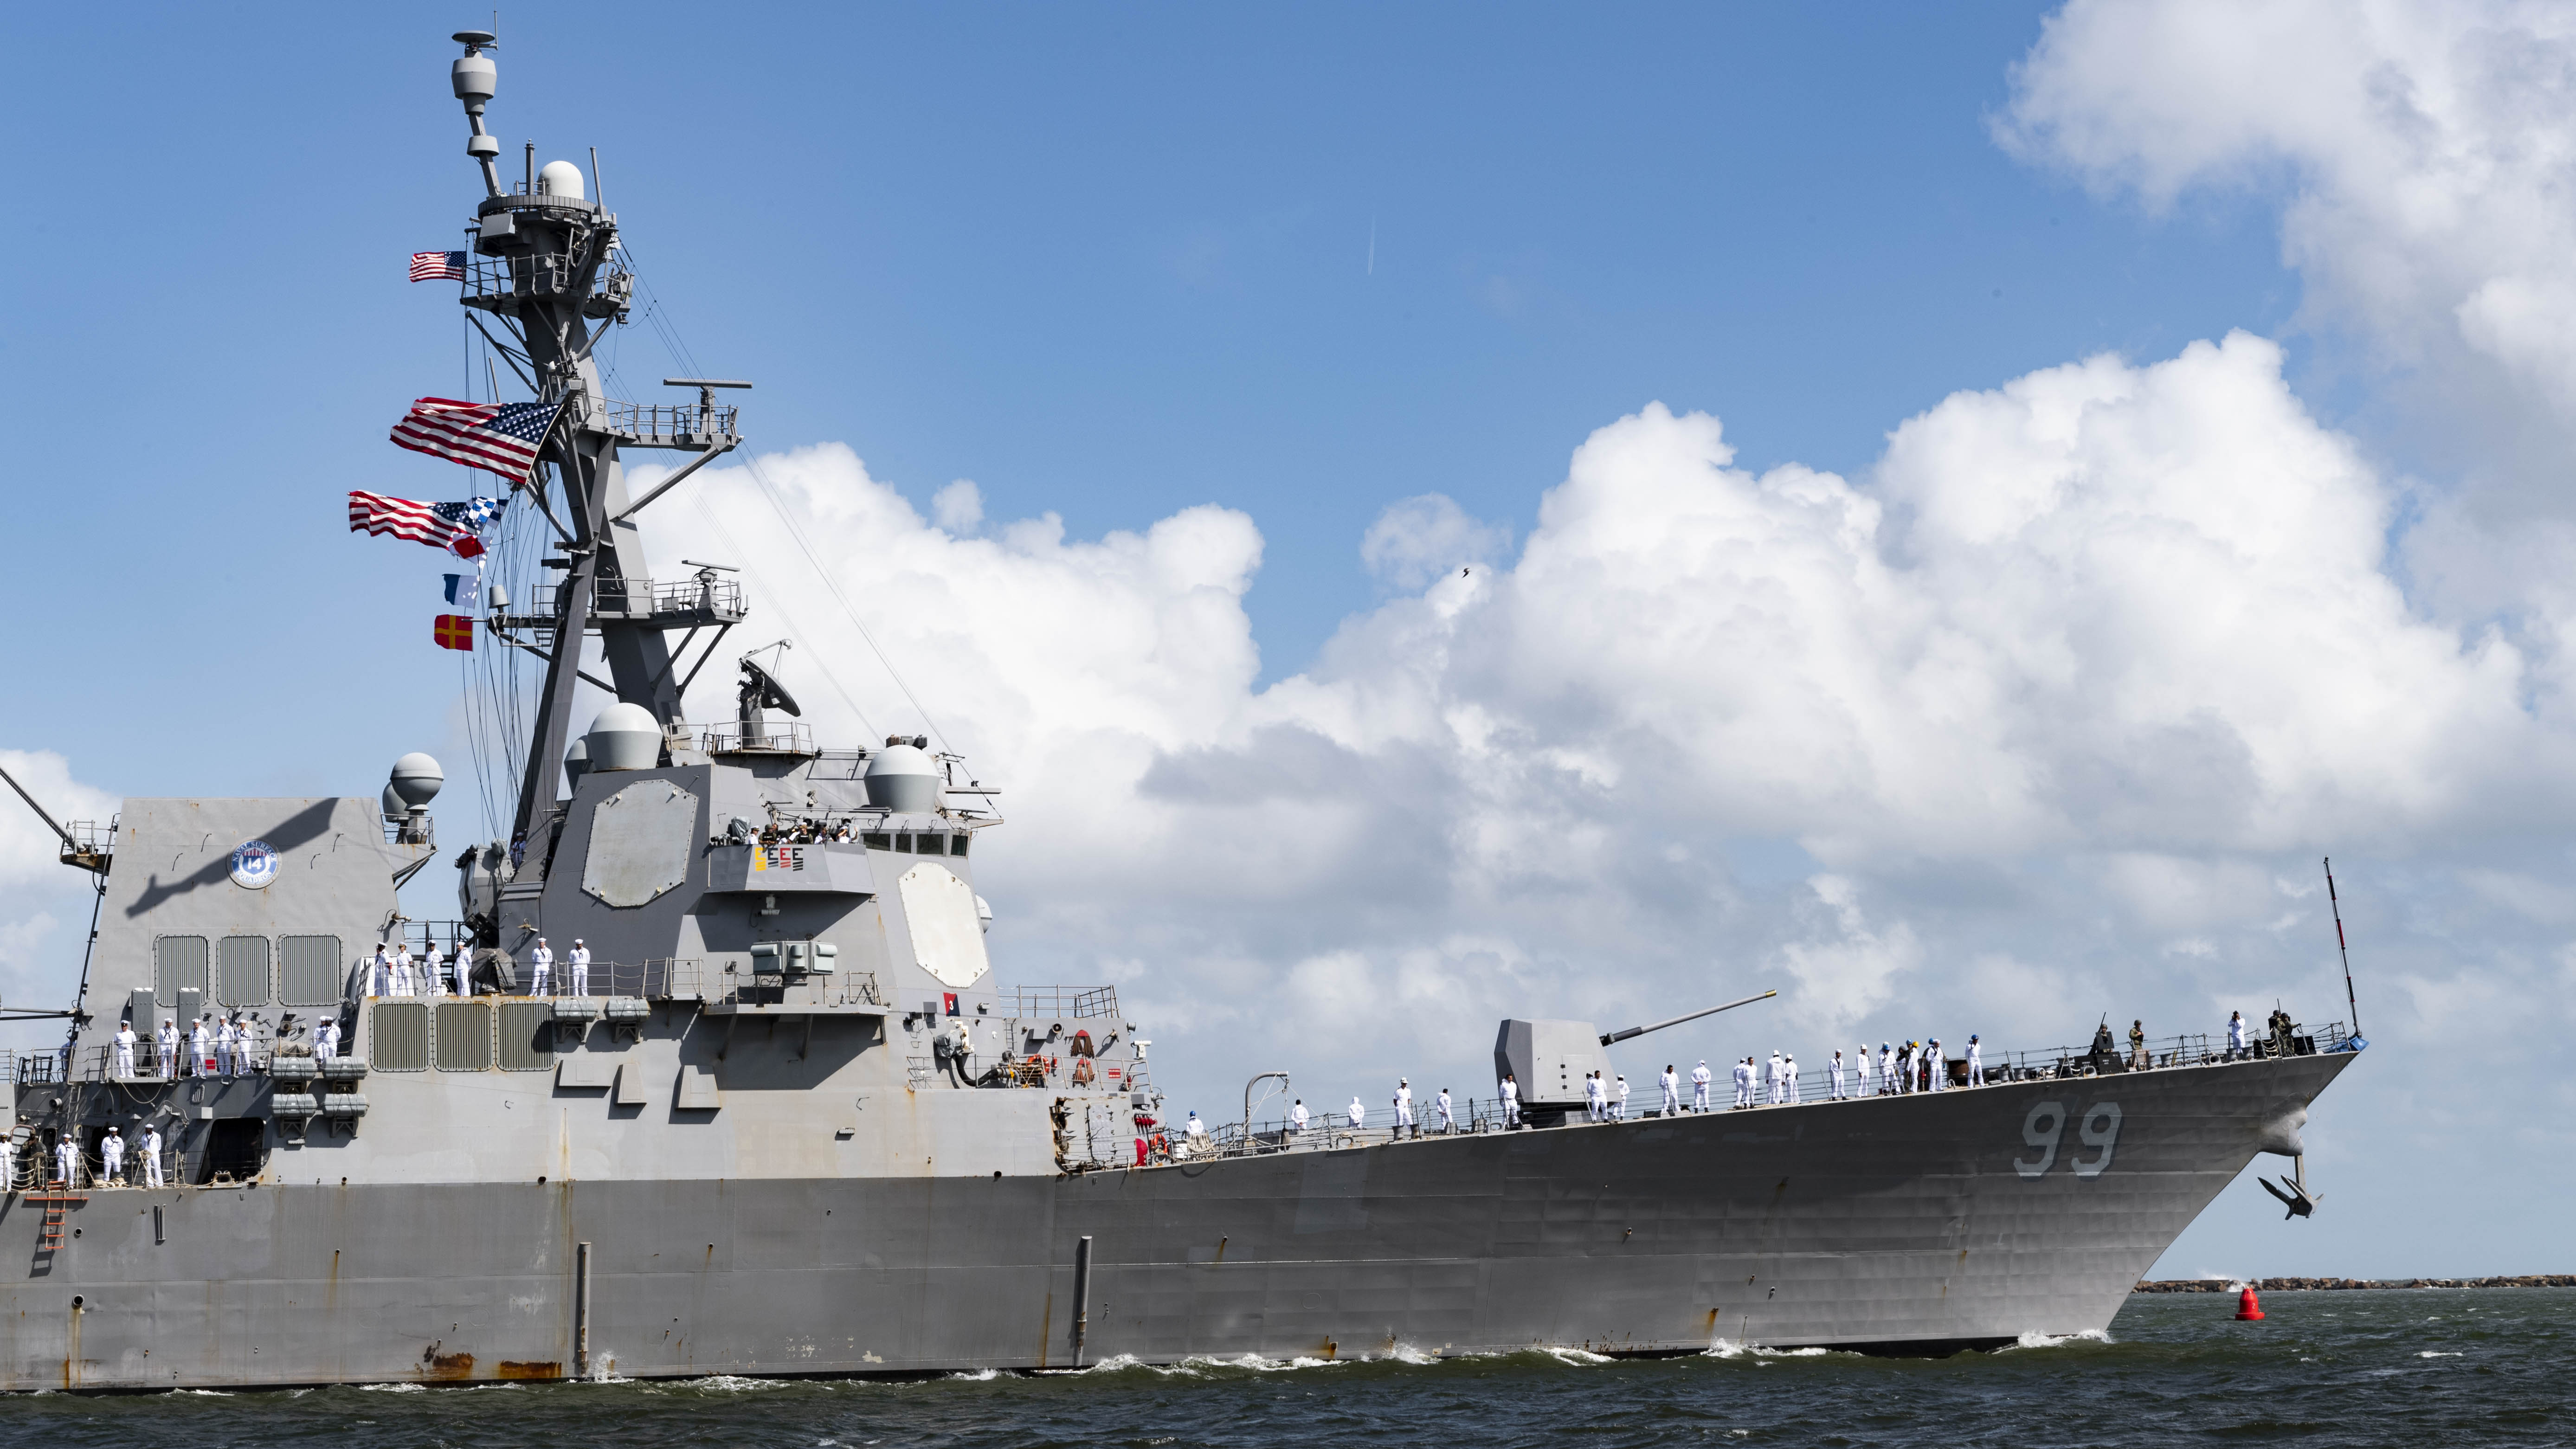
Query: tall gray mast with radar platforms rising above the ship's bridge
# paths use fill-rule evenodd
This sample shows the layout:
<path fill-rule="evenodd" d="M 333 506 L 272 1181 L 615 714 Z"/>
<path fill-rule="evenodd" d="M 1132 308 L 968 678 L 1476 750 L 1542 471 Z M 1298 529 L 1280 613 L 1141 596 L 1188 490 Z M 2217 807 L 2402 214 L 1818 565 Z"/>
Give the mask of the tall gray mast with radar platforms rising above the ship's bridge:
<path fill-rule="evenodd" d="M 750 384 L 667 379 L 698 387 L 696 405 L 675 407 L 608 400 L 592 345 L 608 322 L 626 320 L 634 276 L 618 258 L 616 217 L 587 193 L 598 188 L 598 162 L 592 160 L 585 186 L 582 170 L 572 162 L 546 162 L 538 170 L 536 142 L 528 142 L 520 180 L 505 186 L 497 165 L 500 139 L 484 131 L 484 106 L 497 83 L 497 67 L 484 52 L 497 46 L 489 31 L 459 31 L 456 41 L 466 54 L 451 64 L 451 80 L 471 126 L 466 155 L 482 168 L 484 183 L 484 199 L 474 209 L 464 304 L 492 315 L 518 343 L 513 366 L 528 364 L 526 382 L 538 402 L 562 405 L 536 474 L 513 487 L 523 490 L 554 526 L 554 557 L 546 567 L 562 570 L 564 578 L 536 590 L 536 598 L 526 601 L 528 614 L 492 616 L 497 642 L 546 657 L 546 688 L 538 696 L 528 768 L 520 773 L 513 815 L 513 838 L 528 841 L 531 856 L 541 859 L 541 825 L 554 812 L 564 750 L 572 743 L 577 683 L 587 678 L 621 701 L 644 706 L 670 735 L 680 724 L 680 694 L 688 678 L 677 676 L 665 634 L 688 629 L 680 639 L 685 650 L 701 629 L 714 629 L 706 642 L 706 652 L 714 655 L 716 639 L 742 619 L 739 585 L 716 580 L 714 572 L 657 588 L 644 567 L 644 539 L 634 516 L 672 482 L 742 441 L 734 431 L 734 407 L 719 407 L 714 389 Z M 675 449 L 693 456 L 662 487 L 631 503 L 618 464 L 621 446 Z M 585 634 L 600 637 L 605 681 L 580 668 Z"/>

